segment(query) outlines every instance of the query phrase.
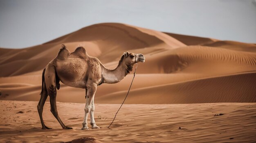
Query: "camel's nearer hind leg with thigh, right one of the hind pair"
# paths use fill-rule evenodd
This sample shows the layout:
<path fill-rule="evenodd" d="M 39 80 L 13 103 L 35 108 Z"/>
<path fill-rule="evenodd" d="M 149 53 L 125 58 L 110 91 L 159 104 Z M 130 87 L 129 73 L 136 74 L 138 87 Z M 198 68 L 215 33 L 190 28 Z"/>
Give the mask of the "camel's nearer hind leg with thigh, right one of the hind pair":
<path fill-rule="evenodd" d="M 72 129 L 70 127 L 65 126 L 63 124 L 63 122 L 61 121 L 61 118 L 58 116 L 58 111 L 57 111 L 57 106 L 56 106 L 56 95 L 57 95 L 56 71 L 55 71 L 55 67 L 50 64 L 47 65 L 47 67 L 45 69 L 45 85 L 46 85 L 47 93 L 50 96 L 50 104 L 51 104 L 52 114 L 58 120 L 58 122 L 61 124 L 61 127 L 63 129 Z"/>

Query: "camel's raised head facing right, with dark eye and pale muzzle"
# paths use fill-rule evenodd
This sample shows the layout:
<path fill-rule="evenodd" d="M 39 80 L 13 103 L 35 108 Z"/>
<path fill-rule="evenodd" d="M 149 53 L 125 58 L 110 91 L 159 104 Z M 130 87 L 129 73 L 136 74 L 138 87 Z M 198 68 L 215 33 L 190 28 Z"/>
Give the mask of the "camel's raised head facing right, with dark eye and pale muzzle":
<path fill-rule="evenodd" d="M 126 64 L 134 65 L 135 63 L 145 62 L 145 57 L 143 54 L 135 54 L 135 53 L 129 53 L 124 52 L 124 60 Z"/>

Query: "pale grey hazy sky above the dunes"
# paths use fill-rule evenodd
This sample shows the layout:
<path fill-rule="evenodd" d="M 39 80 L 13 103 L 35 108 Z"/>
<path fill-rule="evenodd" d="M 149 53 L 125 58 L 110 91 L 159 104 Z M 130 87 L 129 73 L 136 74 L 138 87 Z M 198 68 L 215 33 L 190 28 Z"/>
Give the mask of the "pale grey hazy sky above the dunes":
<path fill-rule="evenodd" d="M 256 43 L 256 0 L 0 0 L 0 47 L 38 45 L 103 22 Z"/>

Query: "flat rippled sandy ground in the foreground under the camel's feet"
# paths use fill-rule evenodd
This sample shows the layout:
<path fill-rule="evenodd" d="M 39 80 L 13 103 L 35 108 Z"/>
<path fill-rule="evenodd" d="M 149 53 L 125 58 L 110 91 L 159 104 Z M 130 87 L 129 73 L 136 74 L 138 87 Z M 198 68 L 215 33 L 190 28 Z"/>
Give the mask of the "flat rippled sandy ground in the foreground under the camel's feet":
<path fill-rule="evenodd" d="M 45 104 L 42 130 L 37 102 L 0 100 L 1 142 L 67 142 L 94 137 L 97 142 L 256 142 L 256 103 L 124 104 L 111 128 L 120 104 L 96 104 L 94 117 L 101 129 L 81 130 L 84 106 L 57 103 L 64 130 Z M 221 116 L 215 114 L 223 113 Z M 90 123 L 90 120 L 88 119 Z M 90 127 L 90 126 L 89 126 Z"/>

